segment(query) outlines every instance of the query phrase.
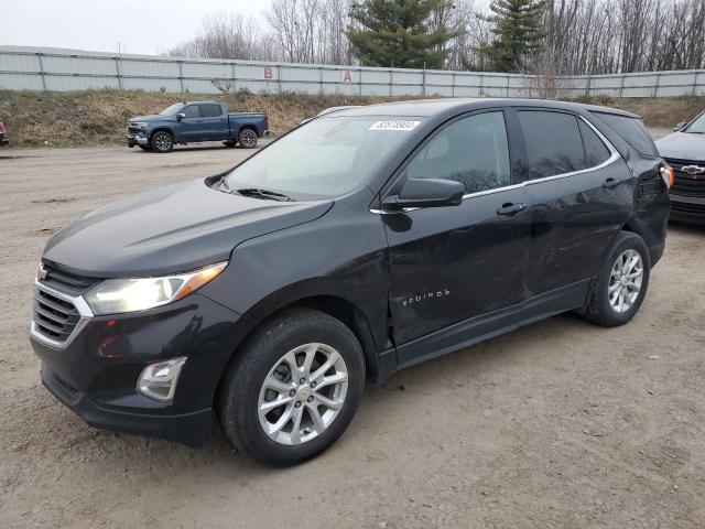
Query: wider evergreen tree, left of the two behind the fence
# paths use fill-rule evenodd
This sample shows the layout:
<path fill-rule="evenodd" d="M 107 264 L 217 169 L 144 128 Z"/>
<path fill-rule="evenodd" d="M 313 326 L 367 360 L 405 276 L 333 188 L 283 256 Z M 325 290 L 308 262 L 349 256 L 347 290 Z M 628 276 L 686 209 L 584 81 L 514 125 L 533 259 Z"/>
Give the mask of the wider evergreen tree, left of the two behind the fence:
<path fill-rule="evenodd" d="M 457 33 L 431 30 L 429 15 L 451 0 L 364 0 L 354 2 L 347 31 L 352 54 L 366 66 L 443 68 L 446 42 Z"/>

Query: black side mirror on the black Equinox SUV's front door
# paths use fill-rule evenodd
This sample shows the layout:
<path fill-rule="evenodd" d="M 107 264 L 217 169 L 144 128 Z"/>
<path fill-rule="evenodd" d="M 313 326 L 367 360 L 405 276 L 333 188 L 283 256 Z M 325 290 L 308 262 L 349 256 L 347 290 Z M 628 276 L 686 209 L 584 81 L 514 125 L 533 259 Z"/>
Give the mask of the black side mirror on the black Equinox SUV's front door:
<path fill-rule="evenodd" d="M 443 207 L 459 206 L 463 203 L 465 186 L 452 180 L 411 179 L 408 180 L 399 195 L 388 196 L 382 207 L 401 210 L 405 207 Z"/>

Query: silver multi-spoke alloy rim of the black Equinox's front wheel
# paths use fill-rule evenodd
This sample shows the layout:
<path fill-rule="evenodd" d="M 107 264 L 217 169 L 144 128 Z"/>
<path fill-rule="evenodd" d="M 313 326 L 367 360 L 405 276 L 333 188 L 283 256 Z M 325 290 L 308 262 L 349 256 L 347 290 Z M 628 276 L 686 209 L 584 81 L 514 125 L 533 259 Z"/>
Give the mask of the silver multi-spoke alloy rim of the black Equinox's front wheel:
<path fill-rule="evenodd" d="M 335 421 L 347 389 L 347 366 L 335 348 L 301 345 L 283 355 L 264 378 L 257 410 L 260 425 L 276 443 L 306 443 Z"/>

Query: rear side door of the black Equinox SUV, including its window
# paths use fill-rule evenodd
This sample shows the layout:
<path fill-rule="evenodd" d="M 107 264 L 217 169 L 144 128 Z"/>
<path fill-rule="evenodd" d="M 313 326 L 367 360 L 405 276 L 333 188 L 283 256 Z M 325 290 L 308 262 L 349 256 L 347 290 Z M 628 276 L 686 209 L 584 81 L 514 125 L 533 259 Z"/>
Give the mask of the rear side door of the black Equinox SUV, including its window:
<path fill-rule="evenodd" d="M 582 305 L 606 247 L 629 216 L 631 173 L 584 118 L 552 109 L 512 112 L 523 138 L 531 245 L 524 287 L 555 312 Z M 532 305 L 527 306 L 531 317 Z M 545 312 L 544 305 L 538 306 Z"/>

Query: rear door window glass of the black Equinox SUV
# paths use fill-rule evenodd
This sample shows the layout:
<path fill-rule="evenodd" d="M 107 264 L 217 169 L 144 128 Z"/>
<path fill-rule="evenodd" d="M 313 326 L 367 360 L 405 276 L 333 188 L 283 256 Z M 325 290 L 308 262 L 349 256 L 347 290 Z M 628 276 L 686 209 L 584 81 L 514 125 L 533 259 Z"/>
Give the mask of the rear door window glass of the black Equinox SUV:
<path fill-rule="evenodd" d="M 529 180 L 586 169 L 583 140 L 575 116 L 521 110 L 519 125 L 527 144 Z"/>

